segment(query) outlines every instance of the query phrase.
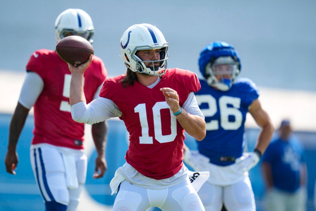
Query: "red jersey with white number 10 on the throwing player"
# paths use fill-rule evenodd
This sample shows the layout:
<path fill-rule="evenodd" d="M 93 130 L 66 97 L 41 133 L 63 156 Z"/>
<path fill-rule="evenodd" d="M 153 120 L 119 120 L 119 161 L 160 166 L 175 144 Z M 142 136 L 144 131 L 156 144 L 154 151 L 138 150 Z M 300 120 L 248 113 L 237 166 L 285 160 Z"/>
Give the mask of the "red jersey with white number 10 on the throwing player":
<path fill-rule="evenodd" d="M 107 79 L 100 96 L 111 99 L 122 112 L 130 134 L 126 162 L 150 178 L 172 177 L 183 165 L 184 129 L 160 88 L 176 90 L 182 106 L 190 92 L 201 88 L 199 80 L 195 73 L 178 68 L 168 69 L 152 89 L 137 81 L 123 88 L 120 80 L 124 77 Z"/>

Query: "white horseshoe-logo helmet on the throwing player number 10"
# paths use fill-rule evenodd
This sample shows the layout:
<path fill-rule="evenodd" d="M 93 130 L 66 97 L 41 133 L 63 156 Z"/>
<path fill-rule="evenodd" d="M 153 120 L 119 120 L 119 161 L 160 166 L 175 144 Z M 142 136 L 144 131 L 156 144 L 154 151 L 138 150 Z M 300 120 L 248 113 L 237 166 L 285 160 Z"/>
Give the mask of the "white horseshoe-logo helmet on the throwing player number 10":
<path fill-rule="evenodd" d="M 135 53 L 139 50 L 160 49 L 160 60 L 142 61 Z M 163 75 L 167 70 L 168 43 L 161 31 L 147 23 L 129 27 L 121 38 L 121 53 L 125 66 L 133 72 Z M 160 62 L 159 67 L 146 67 L 144 62 Z M 162 71 L 159 73 L 159 71 Z"/>

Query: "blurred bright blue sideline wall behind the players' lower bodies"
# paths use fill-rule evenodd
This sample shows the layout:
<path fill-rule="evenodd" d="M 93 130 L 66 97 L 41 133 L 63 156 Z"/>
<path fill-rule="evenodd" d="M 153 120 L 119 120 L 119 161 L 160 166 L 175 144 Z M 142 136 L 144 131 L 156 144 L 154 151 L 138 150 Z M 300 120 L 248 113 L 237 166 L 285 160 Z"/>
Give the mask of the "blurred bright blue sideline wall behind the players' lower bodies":
<path fill-rule="evenodd" d="M 11 115 L 0 114 L 0 134 L 2 147 L 0 156 L 2 160 L 2 168 L 0 168 L 0 211 L 42 211 L 44 205 L 36 187 L 36 183 L 31 170 L 29 158 L 29 146 L 32 138 L 33 116 L 27 118 L 25 127 L 21 133 L 17 152 L 19 155 L 19 163 L 16 170 L 16 175 L 6 173 L 4 167 L 4 157 L 8 143 L 8 131 Z M 85 188 L 89 197 L 95 202 L 111 206 L 114 202 L 115 195 L 111 196 L 109 183 L 114 176 L 115 170 L 125 163 L 125 152 L 127 149 L 128 134 L 123 121 L 108 120 L 109 132 L 106 148 L 106 161 L 108 169 L 103 178 L 95 180 L 92 178 L 94 173 L 94 159 L 96 157 L 95 150 L 89 153 L 88 156 L 88 173 Z M 257 139 L 259 130 L 247 130 L 247 145 L 248 149 L 252 150 Z M 308 169 L 308 203 L 307 211 L 314 210 L 313 208 L 313 192 L 316 177 L 316 167 L 314 158 L 316 152 L 316 133 L 315 132 L 295 132 L 303 143 L 305 148 L 305 158 Z M 92 142 L 92 140 L 87 140 Z M 185 143 L 191 148 L 196 149 L 195 141 L 186 135 Z M 93 143 L 89 143 L 90 145 Z M 263 211 L 264 206 L 264 181 L 260 169 L 260 163 L 250 172 L 250 179 L 254 190 L 257 210 Z M 80 208 L 80 204 L 79 204 Z M 100 209 L 104 210 L 104 209 Z M 155 209 L 159 210 L 159 209 Z"/>

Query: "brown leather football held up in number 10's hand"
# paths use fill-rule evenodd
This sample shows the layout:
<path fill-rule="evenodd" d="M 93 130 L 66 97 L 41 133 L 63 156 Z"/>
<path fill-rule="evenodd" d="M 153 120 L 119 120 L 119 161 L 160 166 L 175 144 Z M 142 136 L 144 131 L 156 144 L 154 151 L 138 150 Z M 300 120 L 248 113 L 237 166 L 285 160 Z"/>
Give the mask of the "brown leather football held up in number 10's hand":
<path fill-rule="evenodd" d="M 94 49 L 88 40 L 71 35 L 57 43 L 56 52 L 65 62 L 72 65 L 81 65 L 88 61 L 91 54 L 94 54 Z"/>

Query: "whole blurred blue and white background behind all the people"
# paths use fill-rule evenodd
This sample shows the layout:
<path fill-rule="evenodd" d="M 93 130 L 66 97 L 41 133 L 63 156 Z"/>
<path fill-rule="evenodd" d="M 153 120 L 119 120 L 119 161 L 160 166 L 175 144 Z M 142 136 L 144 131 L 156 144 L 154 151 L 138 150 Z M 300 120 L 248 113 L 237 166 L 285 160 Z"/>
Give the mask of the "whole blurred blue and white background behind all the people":
<path fill-rule="evenodd" d="M 306 0 L 90 0 L 0 2 L 0 160 L 4 160 L 8 128 L 25 77 L 25 65 L 33 51 L 56 46 L 54 23 L 65 9 L 85 10 L 94 22 L 94 51 L 103 59 L 109 76 L 125 73 L 119 58 L 124 31 L 137 23 L 158 27 L 169 42 L 168 67 L 198 71 L 200 51 L 215 40 L 233 44 L 241 58 L 240 77 L 251 78 L 260 89 L 260 100 L 277 128 L 289 118 L 304 146 L 308 168 L 307 211 L 314 210 L 316 167 L 316 1 Z M 248 149 L 252 150 L 258 127 L 247 117 Z M 0 210 L 44 210 L 29 162 L 33 130 L 32 112 L 22 131 L 17 175 L 0 168 Z M 187 145 L 195 147 L 191 137 Z M 124 164 L 127 133 L 123 122 L 109 120 L 106 153 L 108 171 L 92 179 L 93 141 L 87 126 L 89 157 L 87 183 L 78 210 L 111 210 L 114 196 L 109 182 Z M 3 162 L 2 162 L 3 164 Z M 264 181 L 259 165 L 250 171 L 257 210 L 264 207 Z M 94 208 L 94 209 L 93 209 Z"/>

